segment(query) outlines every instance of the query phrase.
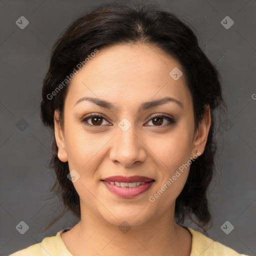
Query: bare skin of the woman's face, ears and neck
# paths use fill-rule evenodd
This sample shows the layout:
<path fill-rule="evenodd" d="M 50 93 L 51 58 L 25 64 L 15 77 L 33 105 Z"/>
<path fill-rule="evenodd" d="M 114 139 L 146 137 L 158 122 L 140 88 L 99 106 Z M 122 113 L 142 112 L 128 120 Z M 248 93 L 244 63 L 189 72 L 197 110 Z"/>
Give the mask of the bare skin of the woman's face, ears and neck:
<path fill-rule="evenodd" d="M 80 175 L 73 185 L 80 197 L 81 219 L 61 234 L 73 255 L 190 255 L 191 234 L 174 222 L 175 199 L 189 168 L 154 202 L 148 199 L 197 150 L 203 153 L 210 127 L 209 108 L 198 129 L 194 127 L 192 97 L 183 75 L 178 80 L 169 75 L 174 67 L 182 71 L 179 62 L 156 46 L 122 44 L 100 49 L 72 78 L 62 128 L 57 111 L 54 116 L 58 158 Z M 116 109 L 87 100 L 75 104 L 84 96 L 107 100 Z M 168 101 L 138 112 L 141 103 L 166 96 L 183 107 Z M 103 115 L 100 124 L 92 118 L 87 125 L 82 122 L 88 113 Z M 173 116 L 176 123 L 153 121 L 153 114 Z M 118 126 L 123 118 L 131 125 L 125 132 Z M 159 120 L 163 123 L 157 124 Z M 101 181 L 112 175 L 142 175 L 155 182 L 144 193 L 123 198 Z M 126 233 L 118 228 L 123 221 L 131 227 Z"/>

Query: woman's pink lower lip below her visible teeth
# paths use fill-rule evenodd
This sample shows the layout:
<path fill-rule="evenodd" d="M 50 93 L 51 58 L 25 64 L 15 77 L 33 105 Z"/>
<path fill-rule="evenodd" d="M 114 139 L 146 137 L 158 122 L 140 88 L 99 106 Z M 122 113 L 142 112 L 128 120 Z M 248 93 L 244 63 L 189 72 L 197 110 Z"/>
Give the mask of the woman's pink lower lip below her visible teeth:
<path fill-rule="evenodd" d="M 102 180 L 102 181 L 110 192 L 125 198 L 132 198 L 145 192 L 154 182 L 153 180 L 151 180 L 150 182 L 146 182 L 145 184 L 139 185 L 139 186 L 121 187 L 121 186 L 110 184 L 105 180 Z"/>

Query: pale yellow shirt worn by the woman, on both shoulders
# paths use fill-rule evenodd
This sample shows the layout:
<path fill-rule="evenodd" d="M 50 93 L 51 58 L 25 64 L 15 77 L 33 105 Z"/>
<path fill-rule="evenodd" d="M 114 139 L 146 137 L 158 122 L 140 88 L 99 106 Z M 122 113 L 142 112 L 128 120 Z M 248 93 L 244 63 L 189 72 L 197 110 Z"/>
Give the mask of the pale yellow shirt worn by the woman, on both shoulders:
<path fill-rule="evenodd" d="M 57 232 L 55 236 L 45 237 L 40 243 L 30 245 L 9 256 L 72 256 L 60 237 L 60 234 L 66 229 Z M 190 256 L 247 256 L 245 254 L 239 254 L 219 242 L 213 241 L 206 235 L 190 227 L 187 227 L 187 229 L 192 235 Z"/>

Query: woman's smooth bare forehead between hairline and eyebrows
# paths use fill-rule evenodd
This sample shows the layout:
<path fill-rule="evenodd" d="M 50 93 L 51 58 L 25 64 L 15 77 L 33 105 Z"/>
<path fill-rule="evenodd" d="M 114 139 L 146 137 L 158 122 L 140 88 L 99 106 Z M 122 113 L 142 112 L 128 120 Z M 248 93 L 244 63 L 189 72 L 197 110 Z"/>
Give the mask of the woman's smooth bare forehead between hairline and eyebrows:
<path fill-rule="evenodd" d="M 174 80 L 169 72 L 182 70 L 180 63 L 152 44 L 111 45 L 99 49 L 72 78 L 66 101 L 83 96 L 104 98 L 119 105 L 174 97 L 191 107 L 184 76 Z M 178 69 L 176 69 L 178 68 Z"/>

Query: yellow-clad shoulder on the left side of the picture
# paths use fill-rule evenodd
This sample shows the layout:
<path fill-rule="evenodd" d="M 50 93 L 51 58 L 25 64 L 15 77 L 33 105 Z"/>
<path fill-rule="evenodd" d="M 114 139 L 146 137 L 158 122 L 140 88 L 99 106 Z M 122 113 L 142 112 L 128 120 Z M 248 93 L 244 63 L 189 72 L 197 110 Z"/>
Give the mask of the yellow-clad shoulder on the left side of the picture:
<path fill-rule="evenodd" d="M 24 249 L 18 250 L 10 254 L 9 256 L 48 256 L 49 254 L 58 256 L 61 255 L 62 252 L 66 252 L 67 255 L 71 255 L 67 251 L 60 237 L 61 232 L 63 232 L 63 230 L 57 232 L 55 236 L 44 237 L 41 242 L 30 245 Z"/>

